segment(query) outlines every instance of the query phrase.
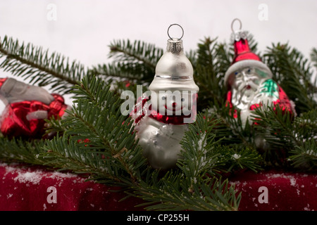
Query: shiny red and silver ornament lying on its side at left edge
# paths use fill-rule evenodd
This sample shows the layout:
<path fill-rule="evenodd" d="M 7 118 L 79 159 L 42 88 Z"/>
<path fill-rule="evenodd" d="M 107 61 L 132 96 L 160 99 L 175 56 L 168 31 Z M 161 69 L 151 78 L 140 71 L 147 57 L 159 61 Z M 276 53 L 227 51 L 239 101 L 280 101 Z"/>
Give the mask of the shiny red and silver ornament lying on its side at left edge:
<path fill-rule="evenodd" d="M 0 79 L 0 97 L 6 105 L 0 119 L 1 133 L 9 138 L 40 139 L 45 134 L 44 119 L 62 117 L 70 108 L 62 96 L 13 78 Z"/>

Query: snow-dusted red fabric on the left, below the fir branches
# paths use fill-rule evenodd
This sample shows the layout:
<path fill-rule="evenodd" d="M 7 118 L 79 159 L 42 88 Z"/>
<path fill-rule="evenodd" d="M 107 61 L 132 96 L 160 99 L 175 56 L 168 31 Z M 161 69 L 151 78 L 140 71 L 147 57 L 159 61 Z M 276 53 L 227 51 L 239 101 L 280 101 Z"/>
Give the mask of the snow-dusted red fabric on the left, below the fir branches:
<path fill-rule="evenodd" d="M 49 187 L 56 188 L 56 203 L 47 200 L 52 193 Z M 142 203 L 138 198 L 119 202 L 125 196 L 120 188 L 85 181 L 76 174 L 0 164 L 0 211 L 142 210 L 134 207 Z"/>

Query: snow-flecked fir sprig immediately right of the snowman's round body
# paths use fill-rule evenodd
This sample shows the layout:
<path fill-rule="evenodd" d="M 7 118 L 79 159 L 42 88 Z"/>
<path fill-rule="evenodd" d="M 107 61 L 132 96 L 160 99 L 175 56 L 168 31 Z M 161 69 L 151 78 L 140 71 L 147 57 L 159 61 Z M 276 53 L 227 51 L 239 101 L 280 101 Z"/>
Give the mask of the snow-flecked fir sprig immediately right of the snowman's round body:
<path fill-rule="evenodd" d="M 194 179 L 206 174 L 215 176 L 218 172 L 231 172 L 234 169 L 261 169 L 261 156 L 254 148 L 237 148 L 237 145 L 221 146 L 225 138 L 216 139 L 216 129 L 220 119 L 216 115 L 198 115 L 194 124 L 181 141 L 185 160 L 180 160 L 180 169 Z M 190 161 L 190 159 L 192 161 Z"/>

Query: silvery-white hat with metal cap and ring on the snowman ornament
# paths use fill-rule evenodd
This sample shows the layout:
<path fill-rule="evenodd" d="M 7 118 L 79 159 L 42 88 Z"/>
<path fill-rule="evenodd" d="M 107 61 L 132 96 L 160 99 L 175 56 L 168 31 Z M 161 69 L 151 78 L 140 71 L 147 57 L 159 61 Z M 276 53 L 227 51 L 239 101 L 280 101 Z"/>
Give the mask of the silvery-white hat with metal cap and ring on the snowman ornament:
<path fill-rule="evenodd" d="M 173 25 L 170 25 L 170 27 Z M 170 27 L 168 27 L 168 30 Z M 182 30 L 182 36 L 183 34 L 184 30 Z M 170 37 L 169 33 L 168 37 Z M 149 90 L 199 91 L 199 87 L 194 82 L 192 63 L 185 56 L 181 38 L 170 37 L 168 39 L 166 52 L 163 53 L 163 56 L 156 64 L 155 76 L 149 86 Z"/>

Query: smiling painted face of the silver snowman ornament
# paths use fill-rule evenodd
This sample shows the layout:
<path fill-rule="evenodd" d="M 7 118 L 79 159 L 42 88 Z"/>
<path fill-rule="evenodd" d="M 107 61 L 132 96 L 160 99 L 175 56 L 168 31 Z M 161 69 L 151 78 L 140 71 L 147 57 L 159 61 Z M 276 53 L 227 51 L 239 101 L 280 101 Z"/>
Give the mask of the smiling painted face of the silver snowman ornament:
<path fill-rule="evenodd" d="M 153 91 L 151 109 L 162 115 L 189 115 L 196 98 L 197 91 Z"/>

